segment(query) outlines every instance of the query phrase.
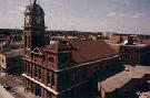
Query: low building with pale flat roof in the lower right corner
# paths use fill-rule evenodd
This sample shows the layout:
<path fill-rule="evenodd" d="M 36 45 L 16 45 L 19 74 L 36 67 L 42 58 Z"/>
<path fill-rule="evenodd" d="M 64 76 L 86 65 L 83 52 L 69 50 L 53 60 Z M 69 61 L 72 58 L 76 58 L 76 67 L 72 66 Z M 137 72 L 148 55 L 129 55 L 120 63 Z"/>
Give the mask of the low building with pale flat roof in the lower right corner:
<path fill-rule="evenodd" d="M 150 67 L 126 67 L 129 68 L 128 72 L 123 70 L 98 83 L 100 98 L 139 98 L 141 92 L 150 90 Z"/>

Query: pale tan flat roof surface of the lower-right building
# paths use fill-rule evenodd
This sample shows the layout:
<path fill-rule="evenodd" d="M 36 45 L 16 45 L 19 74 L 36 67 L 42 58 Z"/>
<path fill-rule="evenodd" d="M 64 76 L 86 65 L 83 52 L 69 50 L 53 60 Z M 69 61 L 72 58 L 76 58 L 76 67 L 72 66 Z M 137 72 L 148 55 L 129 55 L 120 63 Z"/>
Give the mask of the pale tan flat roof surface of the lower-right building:
<path fill-rule="evenodd" d="M 126 65 L 126 67 L 129 68 L 129 72 L 123 70 L 103 81 L 99 81 L 98 84 L 101 84 L 104 91 L 111 92 L 117 88 L 123 87 L 132 78 L 142 78 L 146 74 L 150 74 L 150 66 L 132 67 L 130 65 Z"/>

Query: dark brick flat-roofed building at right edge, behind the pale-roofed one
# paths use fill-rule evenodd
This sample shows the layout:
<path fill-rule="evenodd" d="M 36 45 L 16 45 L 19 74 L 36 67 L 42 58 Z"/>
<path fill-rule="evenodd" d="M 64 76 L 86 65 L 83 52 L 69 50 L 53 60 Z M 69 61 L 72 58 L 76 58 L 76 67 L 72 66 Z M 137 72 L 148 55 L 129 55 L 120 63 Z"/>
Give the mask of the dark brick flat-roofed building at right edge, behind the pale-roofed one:
<path fill-rule="evenodd" d="M 150 45 L 134 44 L 133 37 L 129 36 L 128 43 L 120 46 L 120 58 L 126 65 L 146 64 L 150 58 Z"/>

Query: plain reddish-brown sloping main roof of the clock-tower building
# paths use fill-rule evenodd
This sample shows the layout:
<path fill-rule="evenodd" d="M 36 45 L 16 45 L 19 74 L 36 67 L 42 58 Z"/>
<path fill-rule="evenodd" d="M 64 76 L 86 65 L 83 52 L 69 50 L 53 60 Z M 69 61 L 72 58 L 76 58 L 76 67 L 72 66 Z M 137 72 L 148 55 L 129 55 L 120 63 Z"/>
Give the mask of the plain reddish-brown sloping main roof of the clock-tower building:
<path fill-rule="evenodd" d="M 76 63 L 94 61 L 118 54 L 118 50 L 104 41 L 72 41 L 76 48 L 72 58 Z"/>

